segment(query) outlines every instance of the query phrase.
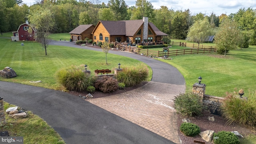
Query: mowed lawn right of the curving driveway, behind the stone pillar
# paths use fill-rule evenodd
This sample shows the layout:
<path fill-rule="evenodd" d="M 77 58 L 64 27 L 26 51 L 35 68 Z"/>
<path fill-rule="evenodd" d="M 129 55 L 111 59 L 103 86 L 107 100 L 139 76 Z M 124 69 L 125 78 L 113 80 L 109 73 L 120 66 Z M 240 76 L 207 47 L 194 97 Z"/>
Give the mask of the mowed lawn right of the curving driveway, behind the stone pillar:
<path fill-rule="evenodd" d="M 218 54 L 195 54 L 160 59 L 176 67 L 186 80 L 186 91 L 202 77 L 206 84 L 206 95 L 224 97 L 234 89 L 245 93 L 255 90 L 256 47 L 231 50 L 226 57 Z"/>

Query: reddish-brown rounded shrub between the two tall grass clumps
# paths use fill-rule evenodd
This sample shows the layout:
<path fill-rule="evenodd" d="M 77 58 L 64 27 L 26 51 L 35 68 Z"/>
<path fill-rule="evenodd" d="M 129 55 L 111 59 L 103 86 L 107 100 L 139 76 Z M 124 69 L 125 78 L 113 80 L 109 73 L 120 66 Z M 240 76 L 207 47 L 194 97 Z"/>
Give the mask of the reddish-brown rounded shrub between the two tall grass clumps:
<path fill-rule="evenodd" d="M 110 93 L 118 89 L 118 81 L 112 77 L 102 77 L 95 83 L 95 88 L 99 89 L 103 93 Z"/>

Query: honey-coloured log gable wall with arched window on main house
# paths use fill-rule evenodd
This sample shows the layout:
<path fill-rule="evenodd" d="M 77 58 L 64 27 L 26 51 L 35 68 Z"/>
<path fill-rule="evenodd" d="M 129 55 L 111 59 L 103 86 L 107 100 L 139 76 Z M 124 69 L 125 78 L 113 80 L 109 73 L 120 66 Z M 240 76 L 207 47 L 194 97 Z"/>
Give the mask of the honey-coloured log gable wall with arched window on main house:
<path fill-rule="evenodd" d="M 100 34 L 102 34 L 102 40 L 100 40 Z M 96 27 L 96 30 L 94 31 L 93 35 L 93 41 L 94 42 L 104 42 L 105 41 L 105 37 L 108 37 L 108 41 L 112 41 L 111 37 L 108 33 L 108 31 L 106 30 L 106 28 L 102 25 L 102 23 L 98 24 L 98 26 Z M 94 36 L 96 36 L 96 39 L 94 39 Z"/>

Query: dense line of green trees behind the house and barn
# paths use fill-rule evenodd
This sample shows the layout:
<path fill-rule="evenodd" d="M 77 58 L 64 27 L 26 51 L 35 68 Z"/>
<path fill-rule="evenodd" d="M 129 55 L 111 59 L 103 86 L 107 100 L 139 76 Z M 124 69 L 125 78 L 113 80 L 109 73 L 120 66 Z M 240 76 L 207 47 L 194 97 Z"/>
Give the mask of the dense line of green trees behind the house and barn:
<path fill-rule="evenodd" d="M 107 4 L 100 0 L 36 0 L 36 4 L 27 6 L 22 0 L 0 0 L 0 31 L 16 31 L 28 16 L 36 11 L 49 10 L 54 18 L 51 33 L 70 32 L 80 24 L 94 24 L 99 20 L 137 20 L 148 17 L 150 22 L 171 39 L 185 39 L 193 26 L 207 24 L 211 28 L 209 35 L 219 30 L 224 19 L 230 19 L 238 25 L 244 39 L 252 45 L 256 44 L 256 10 L 240 8 L 230 15 L 209 16 L 203 13 L 192 14 L 188 10 L 172 10 L 167 6 L 155 9 L 147 0 L 136 0 L 135 6 L 127 6 L 124 0 L 109 0 Z M 194 26 L 195 27 L 195 26 Z"/>

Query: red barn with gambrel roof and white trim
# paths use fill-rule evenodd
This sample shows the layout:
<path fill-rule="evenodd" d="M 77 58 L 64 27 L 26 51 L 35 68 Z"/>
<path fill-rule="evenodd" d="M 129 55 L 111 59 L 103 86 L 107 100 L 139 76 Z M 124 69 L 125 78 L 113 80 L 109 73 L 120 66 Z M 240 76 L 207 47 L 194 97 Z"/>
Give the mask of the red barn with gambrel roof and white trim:
<path fill-rule="evenodd" d="M 32 33 L 28 33 L 28 28 L 32 28 Z M 17 32 L 12 32 L 12 41 L 35 41 L 36 40 L 36 30 L 28 23 L 21 24 Z"/>

